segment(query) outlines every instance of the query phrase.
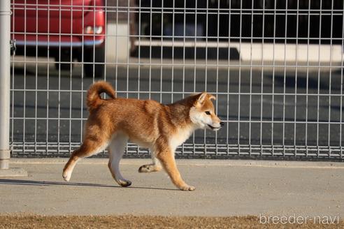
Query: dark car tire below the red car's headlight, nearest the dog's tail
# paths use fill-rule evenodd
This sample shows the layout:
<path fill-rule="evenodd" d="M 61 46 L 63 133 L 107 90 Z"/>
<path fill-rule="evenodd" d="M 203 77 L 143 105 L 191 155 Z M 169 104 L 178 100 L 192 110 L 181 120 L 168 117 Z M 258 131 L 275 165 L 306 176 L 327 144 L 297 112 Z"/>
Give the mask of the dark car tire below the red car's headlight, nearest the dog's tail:
<path fill-rule="evenodd" d="M 84 62 L 92 62 L 94 64 L 84 64 L 85 77 L 101 78 L 104 77 L 105 69 L 105 47 L 84 48 Z M 99 63 L 99 64 L 98 64 Z"/>

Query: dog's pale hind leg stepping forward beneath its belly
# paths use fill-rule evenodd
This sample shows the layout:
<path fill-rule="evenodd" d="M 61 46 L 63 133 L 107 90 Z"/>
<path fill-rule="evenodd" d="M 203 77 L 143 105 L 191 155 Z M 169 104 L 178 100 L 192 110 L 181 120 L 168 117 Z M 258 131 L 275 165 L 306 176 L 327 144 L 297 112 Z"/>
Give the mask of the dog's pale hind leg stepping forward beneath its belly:
<path fill-rule="evenodd" d="M 127 145 L 127 141 L 127 135 L 117 134 L 108 147 L 110 154 L 108 168 L 111 172 L 111 175 L 113 175 L 113 179 L 115 179 L 115 181 L 123 187 L 131 185 L 131 182 L 127 179 L 124 179 L 120 172 L 120 160 L 122 159 L 122 156 L 124 154 L 124 149 Z"/>

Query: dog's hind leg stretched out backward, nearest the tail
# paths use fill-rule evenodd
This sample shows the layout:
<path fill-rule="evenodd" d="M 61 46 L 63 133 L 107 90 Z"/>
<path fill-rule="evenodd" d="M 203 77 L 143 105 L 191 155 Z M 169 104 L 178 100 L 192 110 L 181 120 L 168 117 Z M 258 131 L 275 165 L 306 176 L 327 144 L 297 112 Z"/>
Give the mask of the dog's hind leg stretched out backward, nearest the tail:
<path fill-rule="evenodd" d="M 102 152 L 104 149 L 106 149 L 106 147 L 108 147 L 108 142 L 104 142 L 104 140 L 101 141 L 90 138 L 85 139 L 80 148 L 73 151 L 71 158 L 69 158 L 69 161 L 66 163 L 66 165 L 64 165 L 64 170 L 62 173 L 64 180 L 69 182 L 73 169 L 81 158 Z"/>

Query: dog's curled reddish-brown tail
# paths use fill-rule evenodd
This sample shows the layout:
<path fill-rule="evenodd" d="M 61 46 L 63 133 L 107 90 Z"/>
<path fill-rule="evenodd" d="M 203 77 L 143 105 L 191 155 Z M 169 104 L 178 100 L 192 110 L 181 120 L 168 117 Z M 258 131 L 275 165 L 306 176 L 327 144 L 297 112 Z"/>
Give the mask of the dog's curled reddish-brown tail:
<path fill-rule="evenodd" d="M 95 110 L 105 101 L 101 98 L 101 94 L 105 92 L 111 98 L 115 98 L 115 90 L 105 81 L 94 82 L 87 91 L 87 107 L 89 110 Z"/>

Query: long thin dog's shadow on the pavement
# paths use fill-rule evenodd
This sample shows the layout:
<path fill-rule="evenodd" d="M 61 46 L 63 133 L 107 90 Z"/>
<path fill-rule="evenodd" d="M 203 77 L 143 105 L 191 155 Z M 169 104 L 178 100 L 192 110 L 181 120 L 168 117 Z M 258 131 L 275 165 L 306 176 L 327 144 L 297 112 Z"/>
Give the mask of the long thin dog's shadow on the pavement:
<path fill-rule="evenodd" d="M 122 189 L 152 189 L 152 190 L 165 190 L 165 191 L 179 191 L 179 189 L 162 189 L 140 186 L 129 186 L 123 188 L 121 186 L 114 186 L 108 184 L 91 184 L 91 183 L 73 183 L 73 182 L 45 182 L 33 181 L 25 179 L 0 179 L 1 184 L 14 184 L 14 185 L 28 185 L 28 186 L 87 186 L 87 187 L 100 187 L 100 188 L 122 188 Z"/>

